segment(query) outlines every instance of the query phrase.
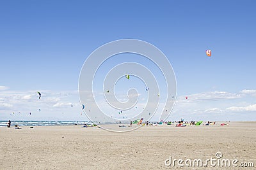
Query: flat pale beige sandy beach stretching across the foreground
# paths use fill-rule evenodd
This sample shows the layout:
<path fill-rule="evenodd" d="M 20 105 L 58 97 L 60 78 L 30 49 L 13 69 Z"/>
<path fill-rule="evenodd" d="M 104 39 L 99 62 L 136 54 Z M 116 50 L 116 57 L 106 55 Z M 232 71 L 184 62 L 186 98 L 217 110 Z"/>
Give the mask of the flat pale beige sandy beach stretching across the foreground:
<path fill-rule="evenodd" d="M 0 169 L 254 169 L 256 122 L 229 124 L 144 126 L 125 133 L 81 125 L 0 127 Z M 254 167 L 164 165 L 170 156 L 204 161 L 216 152 Z"/>

